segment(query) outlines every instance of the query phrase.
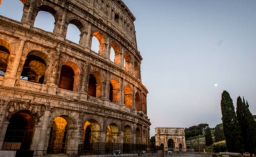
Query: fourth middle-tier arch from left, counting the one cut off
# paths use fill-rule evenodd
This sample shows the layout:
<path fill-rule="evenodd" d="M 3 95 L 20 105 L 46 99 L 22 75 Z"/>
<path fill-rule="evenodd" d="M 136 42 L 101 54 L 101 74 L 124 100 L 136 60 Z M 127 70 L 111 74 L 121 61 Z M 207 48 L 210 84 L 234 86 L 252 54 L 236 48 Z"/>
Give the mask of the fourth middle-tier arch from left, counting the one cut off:
<path fill-rule="evenodd" d="M 90 96 L 101 97 L 101 75 L 99 72 L 93 71 L 90 73 L 87 93 Z"/>

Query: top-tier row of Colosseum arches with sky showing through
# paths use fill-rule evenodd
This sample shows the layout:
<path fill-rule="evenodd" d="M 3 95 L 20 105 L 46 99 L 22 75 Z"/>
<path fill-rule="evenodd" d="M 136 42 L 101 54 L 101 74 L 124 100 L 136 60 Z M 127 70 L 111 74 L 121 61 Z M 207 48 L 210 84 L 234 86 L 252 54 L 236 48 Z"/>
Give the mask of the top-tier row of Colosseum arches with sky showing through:
<path fill-rule="evenodd" d="M 67 15 L 67 13 L 61 16 L 51 6 L 41 5 L 34 9 L 30 23 L 34 27 L 60 34 L 70 41 L 89 47 L 92 52 L 108 57 L 110 61 L 124 67 L 126 71 L 140 79 L 139 61 L 136 61 L 131 53 L 122 52 L 120 44 L 114 39 L 106 39 L 106 35 L 98 28 L 94 26 L 87 28 L 87 24 L 83 24 L 80 20 L 74 15 Z"/>

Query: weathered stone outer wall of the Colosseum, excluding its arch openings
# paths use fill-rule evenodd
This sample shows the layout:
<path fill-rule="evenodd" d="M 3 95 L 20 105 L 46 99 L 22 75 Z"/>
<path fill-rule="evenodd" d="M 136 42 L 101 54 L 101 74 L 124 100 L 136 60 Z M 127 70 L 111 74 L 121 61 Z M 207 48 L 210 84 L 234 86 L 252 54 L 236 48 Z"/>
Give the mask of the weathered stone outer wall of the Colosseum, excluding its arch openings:
<path fill-rule="evenodd" d="M 33 26 L 39 11 L 54 15 L 52 33 Z M 134 20 L 121 0 L 26 0 L 21 22 L 0 16 L 0 46 L 9 51 L 6 72 L 0 76 L 0 148 L 9 119 L 18 112 L 29 113 L 35 121 L 30 150 L 38 156 L 47 154 L 51 127 L 59 116 L 69 126 L 68 155 L 77 154 L 85 122 L 90 119 L 100 126 L 94 132 L 98 142 L 105 142 L 107 126 L 115 123 L 119 143 L 129 126 L 133 144 L 138 129 L 140 144 L 149 145 L 148 91 L 140 77 L 142 57 L 136 48 Z M 65 39 L 69 23 L 81 31 L 79 44 Z M 101 42 L 99 53 L 91 51 L 93 36 Z M 111 46 L 116 48 L 117 62 L 109 59 Z M 131 59 L 129 69 L 124 67 L 125 53 Z M 31 54 L 45 61 L 43 83 L 20 79 Z M 62 65 L 75 73 L 73 90 L 59 88 Z M 96 97 L 87 94 L 90 74 L 97 80 Z M 115 80 L 114 101 L 109 100 L 111 80 Z"/>

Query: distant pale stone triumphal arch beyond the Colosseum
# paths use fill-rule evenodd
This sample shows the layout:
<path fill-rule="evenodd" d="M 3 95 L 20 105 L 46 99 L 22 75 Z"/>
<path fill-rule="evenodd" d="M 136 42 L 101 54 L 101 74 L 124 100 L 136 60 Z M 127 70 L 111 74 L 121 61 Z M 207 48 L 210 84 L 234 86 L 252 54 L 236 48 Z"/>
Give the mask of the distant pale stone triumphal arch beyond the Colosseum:
<path fill-rule="evenodd" d="M 165 151 L 186 152 L 184 128 L 155 128 L 155 144 L 163 146 Z"/>

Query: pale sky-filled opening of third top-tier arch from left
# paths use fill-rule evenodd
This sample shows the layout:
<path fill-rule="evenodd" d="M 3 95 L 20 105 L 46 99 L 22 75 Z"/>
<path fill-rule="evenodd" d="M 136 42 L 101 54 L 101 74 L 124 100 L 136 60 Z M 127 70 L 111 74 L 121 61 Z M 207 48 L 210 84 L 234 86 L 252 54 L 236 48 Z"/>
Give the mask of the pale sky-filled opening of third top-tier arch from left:
<path fill-rule="evenodd" d="M 74 24 L 69 24 L 68 25 L 66 39 L 79 44 L 80 34 L 81 34 L 81 32 L 80 32 L 80 30 L 78 29 L 77 26 L 75 26 Z"/>

